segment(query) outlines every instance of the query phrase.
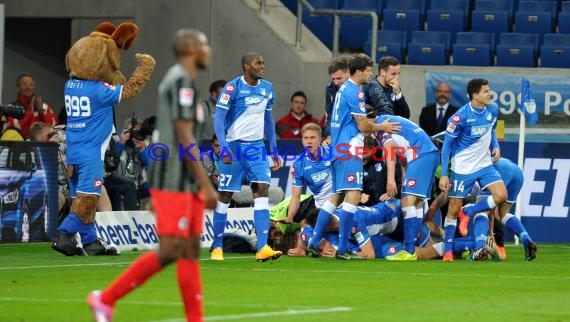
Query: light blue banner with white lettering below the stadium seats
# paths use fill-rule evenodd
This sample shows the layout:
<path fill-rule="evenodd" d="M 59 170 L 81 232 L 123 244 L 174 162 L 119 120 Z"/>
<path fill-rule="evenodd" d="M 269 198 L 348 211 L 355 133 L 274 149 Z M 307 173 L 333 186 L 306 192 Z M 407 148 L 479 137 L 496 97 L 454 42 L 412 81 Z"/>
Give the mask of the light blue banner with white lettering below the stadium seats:
<path fill-rule="evenodd" d="M 425 77 L 426 102 L 434 101 L 435 87 L 444 81 L 451 87 L 451 104 L 456 106 L 463 106 L 469 101 L 466 92 L 469 80 L 487 79 L 501 111 L 500 118 L 508 126 L 518 126 L 519 123 L 517 106 L 521 101 L 522 78 L 528 79 L 532 87 L 541 126 L 567 124 L 570 116 L 570 76 L 427 72 Z"/>

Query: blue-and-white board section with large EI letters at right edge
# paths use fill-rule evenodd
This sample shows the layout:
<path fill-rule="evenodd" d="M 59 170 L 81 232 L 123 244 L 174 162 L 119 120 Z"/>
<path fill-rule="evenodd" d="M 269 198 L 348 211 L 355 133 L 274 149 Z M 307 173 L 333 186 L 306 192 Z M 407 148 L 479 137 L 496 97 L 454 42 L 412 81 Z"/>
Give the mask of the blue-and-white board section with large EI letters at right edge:
<path fill-rule="evenodd" d="M 525 158 L 522 216 L 568 218 L 570 159 Z"/>

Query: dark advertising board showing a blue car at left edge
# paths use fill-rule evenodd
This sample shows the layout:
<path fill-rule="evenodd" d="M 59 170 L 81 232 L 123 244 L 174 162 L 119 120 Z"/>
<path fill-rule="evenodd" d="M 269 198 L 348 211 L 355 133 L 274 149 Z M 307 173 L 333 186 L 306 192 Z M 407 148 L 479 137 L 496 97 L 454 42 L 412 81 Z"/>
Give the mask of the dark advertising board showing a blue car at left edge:
<path fill-rule="evenodd" d="M 58 146 L 0 141 L 0 240 L 50 240 L 57 228 Z"/>

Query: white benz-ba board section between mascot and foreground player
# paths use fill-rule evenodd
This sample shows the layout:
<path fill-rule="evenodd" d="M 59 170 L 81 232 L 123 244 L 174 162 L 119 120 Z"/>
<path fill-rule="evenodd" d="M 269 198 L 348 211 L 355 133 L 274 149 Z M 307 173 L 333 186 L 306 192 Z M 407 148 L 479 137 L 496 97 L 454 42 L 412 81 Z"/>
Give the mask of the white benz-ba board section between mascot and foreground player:
<path fill-rule="evenodd" d="M 95 228 L 99 237 L 110 245 L 136 246 L 139 244 L 158 244 L 158 235 L 154 224 L 139 223 L 131 217 L 131 222 L 124 224 L 99 224 Z"/>

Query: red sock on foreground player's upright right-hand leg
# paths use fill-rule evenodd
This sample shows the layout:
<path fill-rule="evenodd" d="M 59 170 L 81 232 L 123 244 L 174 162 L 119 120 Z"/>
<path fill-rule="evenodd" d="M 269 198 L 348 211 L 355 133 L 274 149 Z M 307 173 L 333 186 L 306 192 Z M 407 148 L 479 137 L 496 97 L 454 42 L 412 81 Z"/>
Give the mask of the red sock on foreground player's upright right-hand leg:
<path fill-rule="evenodd" d="M 198 260 L 179 259 L 178 285 L 184 301 L 186 320 L 202 322 L 202 282 Z"/>

